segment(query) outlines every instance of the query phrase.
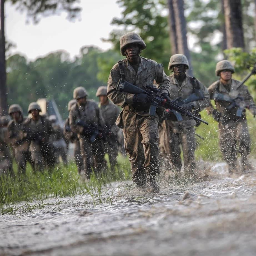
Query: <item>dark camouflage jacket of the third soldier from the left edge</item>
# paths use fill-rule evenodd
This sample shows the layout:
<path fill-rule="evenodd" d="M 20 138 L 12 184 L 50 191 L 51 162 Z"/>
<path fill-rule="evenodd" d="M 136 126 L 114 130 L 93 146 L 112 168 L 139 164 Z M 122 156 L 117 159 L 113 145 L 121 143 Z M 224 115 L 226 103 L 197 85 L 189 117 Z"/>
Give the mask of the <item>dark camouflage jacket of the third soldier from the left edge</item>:
<path fill-rule="evenodd" d="M 34 121 L 32 117 L 24 121 L 24 130 L 27 136 L 34 137 L 31 140 L 30 151 L 41 151 L 40 140 L 49 141 L 49 136 L 53 132 L 51 122 L 44 116 L 39 116 L 38 121 Z"/>

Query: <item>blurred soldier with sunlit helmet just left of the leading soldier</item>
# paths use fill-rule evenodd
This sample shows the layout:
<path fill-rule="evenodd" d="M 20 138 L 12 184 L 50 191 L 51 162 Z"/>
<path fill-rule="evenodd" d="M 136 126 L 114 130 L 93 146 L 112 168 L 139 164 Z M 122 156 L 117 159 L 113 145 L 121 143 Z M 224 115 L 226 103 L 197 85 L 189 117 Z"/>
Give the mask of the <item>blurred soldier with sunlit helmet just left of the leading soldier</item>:
<path fill-rule="evenodd" d="M 107 86 L 100 86 L 96 92 L 96 96 L 99 97 L 99 107 L 105 122 L 102 134 L 102 136 L 104 136 L 102 141 L 104 152 L 109 156 L 111 172 L 114 174 L 115 166 L 117 165 L 118 131 L 120 130 L 120 128 L 116 126 L 116 119 L 120 113 L 120 109 L 112 102 L 109 102 Z"/>

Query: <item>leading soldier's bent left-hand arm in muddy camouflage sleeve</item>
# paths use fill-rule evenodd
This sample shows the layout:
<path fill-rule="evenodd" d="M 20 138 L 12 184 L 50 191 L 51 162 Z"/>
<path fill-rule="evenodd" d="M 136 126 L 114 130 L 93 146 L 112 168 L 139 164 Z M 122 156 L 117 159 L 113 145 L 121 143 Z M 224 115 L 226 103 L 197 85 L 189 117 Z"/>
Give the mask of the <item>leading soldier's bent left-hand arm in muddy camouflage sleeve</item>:
<path fill-rule="evenodd" d="M 120 72 L 118 65 L 115 65 L 109 74 L 109 79 L 107 82 L 107 96 L 109 99 L 120 107 L 125 107 L 127 105 L 132 105 L 134 94 L 119 92 L 116 90 L 117 83 L 120 79 Z"/>

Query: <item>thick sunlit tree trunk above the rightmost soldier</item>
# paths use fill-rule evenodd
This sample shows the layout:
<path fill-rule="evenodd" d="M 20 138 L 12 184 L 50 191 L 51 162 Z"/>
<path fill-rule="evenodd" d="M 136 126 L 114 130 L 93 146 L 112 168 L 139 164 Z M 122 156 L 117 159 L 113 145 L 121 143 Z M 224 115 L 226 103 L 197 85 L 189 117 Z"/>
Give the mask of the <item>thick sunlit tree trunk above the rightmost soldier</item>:
<path fill-rule="evenodd" d="M 227 48 L 242 47 L 244 49 L 241 0 L 224 0 L 224 14 Z"/>

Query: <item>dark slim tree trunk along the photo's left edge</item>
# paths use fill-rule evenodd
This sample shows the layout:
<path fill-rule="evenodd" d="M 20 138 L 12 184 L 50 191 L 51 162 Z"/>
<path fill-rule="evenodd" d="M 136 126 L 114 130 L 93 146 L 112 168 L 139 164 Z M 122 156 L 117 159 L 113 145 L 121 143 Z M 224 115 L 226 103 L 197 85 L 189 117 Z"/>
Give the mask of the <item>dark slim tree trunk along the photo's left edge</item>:
<path fill-rule="evenodd" d="M 7 114 L 5 36 L 4 36 L 4 1 L 0 0 L 0 116 Z"/>

